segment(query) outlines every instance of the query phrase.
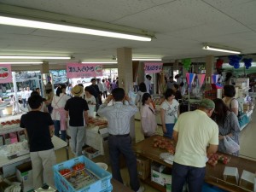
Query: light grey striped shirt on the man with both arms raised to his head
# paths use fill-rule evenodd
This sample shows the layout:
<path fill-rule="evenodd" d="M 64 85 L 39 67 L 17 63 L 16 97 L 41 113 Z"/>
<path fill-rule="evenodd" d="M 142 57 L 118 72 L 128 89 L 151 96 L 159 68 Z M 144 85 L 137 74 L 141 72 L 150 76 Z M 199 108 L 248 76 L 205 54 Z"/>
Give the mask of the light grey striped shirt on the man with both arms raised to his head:
<path fill-rule="evenodd" d="M 125 135 L 130 133 L 131 117 L 138 109 L 133 103 L 125 105 L 123 102 L 115 102 L 113 106 L 103 103 L 98 114 L 108 119 L 108 133 L 112 135 Z"/>

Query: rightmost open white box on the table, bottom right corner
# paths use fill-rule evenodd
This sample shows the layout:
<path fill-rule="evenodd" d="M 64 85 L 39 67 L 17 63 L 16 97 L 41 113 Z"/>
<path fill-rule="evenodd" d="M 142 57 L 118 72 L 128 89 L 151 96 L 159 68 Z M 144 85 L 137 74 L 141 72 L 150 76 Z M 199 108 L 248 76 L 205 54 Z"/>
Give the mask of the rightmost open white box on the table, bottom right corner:
<path fill-rule="evenodd" d="M 241 186 L 242 188 L 253 191 L 254 186 L 256 184 L 256 183 L 254 183 L 255 182 L 254 179 L 255 179 L 255 174 L 254 173 L 247 172 L 247 171 L 243 170 L 242 173 L 241 173 L 239 186 Z"/>

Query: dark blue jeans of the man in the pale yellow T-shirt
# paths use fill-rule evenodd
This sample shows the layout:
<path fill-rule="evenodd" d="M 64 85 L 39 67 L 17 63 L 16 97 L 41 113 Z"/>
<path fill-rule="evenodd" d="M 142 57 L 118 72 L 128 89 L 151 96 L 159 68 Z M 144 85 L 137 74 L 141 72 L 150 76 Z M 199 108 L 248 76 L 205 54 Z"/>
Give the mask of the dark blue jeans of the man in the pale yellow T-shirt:
<path fill-rule="evenodd" d="M 183 166 L 176 162 L 172 165 L 172 192 L 182 192 L 185 182 L 189 192 L 201 191 L 206 174 L 206 167 Z"/>

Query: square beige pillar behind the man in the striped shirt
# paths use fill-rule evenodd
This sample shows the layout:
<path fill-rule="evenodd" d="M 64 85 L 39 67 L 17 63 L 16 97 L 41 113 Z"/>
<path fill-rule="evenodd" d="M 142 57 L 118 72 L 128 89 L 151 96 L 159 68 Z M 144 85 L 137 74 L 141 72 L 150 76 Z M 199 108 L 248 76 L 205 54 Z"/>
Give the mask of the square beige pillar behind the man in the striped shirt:
<path fill-rule="evenodd" d="M 131 48 L 118 48 L 118 70 L 119 70 L 119 87 L 128 93 L 133 87 L 133 74 L 132 74 L 132 54 Z M 130 135 L 132 143 L 135 143 L 135 120 L 131 118 Z"/>

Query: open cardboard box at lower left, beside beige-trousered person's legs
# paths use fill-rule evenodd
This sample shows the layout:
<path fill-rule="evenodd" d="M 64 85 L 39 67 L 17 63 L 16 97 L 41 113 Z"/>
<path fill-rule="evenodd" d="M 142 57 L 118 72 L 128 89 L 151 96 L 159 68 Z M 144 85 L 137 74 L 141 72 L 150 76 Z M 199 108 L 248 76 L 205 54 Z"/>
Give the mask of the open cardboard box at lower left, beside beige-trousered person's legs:
<path fill-rule="evenodd" d="M 16 177 L 21 182 L 23 192 L 33 191 L 32 163 L 26 162 L 16 166 Z"/>

